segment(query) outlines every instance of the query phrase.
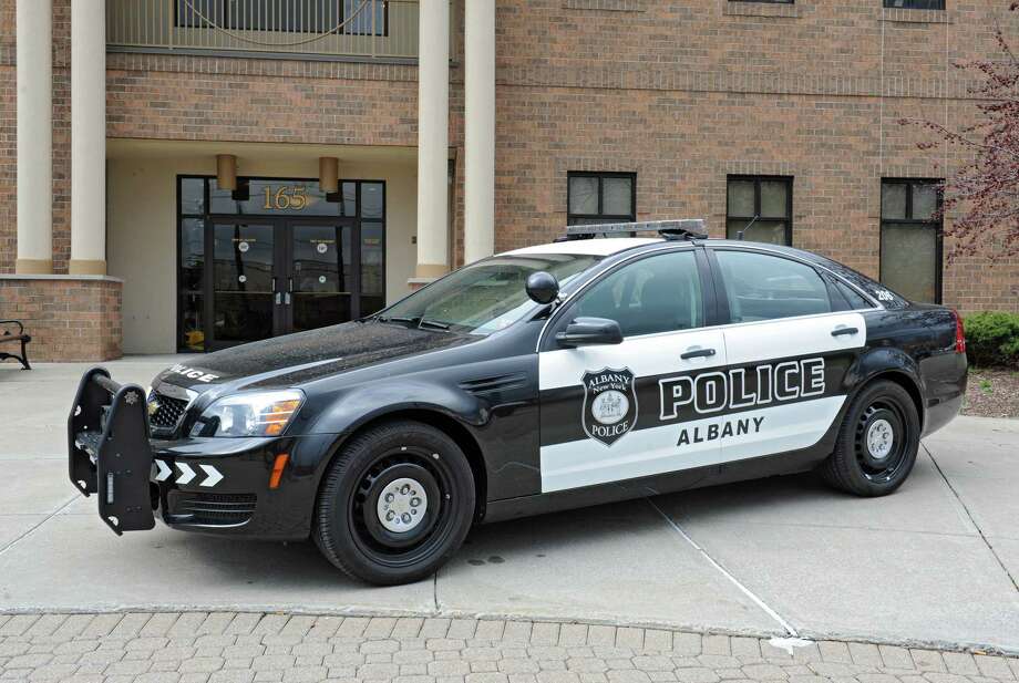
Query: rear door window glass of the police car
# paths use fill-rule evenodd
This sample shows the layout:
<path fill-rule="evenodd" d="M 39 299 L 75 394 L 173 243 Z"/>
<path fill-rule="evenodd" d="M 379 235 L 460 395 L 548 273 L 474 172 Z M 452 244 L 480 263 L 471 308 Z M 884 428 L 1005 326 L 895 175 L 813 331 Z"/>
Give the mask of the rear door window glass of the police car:
<path fill-rule="evenodd" d="M 732 322 L 832 312 L 817 271 L 797 261 L 751 251 L 717 250 Z"/>

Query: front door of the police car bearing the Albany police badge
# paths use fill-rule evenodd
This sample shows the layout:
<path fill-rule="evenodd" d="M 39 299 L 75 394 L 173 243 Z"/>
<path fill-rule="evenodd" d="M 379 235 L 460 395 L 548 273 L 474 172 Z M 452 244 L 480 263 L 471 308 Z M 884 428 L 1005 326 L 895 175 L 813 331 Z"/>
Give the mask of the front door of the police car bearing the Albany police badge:
<path fill-rule="evenodd" d="M 616 344 L 564 345 L 578 318 L 619 324 Z M 718 460 L 698 406 L 694 374 L 721 375 L 722 332 L 703 249 L 666 248 L 629 259 L 569 298 L 541 342 L 542 491 L 618 482 Z M 686 438 L 682 436 L 686 434 Z"/>

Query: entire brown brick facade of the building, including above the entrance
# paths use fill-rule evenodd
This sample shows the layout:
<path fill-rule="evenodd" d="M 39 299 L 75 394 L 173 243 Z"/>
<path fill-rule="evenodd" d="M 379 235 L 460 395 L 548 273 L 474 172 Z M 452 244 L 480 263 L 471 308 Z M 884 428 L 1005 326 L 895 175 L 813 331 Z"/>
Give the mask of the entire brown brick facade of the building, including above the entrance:
<path fill-rule="evenodd" d="M 54 0 L 54 263 L 70 249 L 69 3 Z M 568 170 L 637 173 L 641 219 L 703 216 L 724 231 L 727 174 L 794 176 L 797 247 L 878 273 L 882 177 L 944 177 L 958 151 L 920 152 L 902 116 L 971 121 L 966 74 L 1019 37 L 1001 0 L 947 12 L 881 0 L 497 0 L 496 246 L 566 221 Z M 462 32 L 462 1 L 456 33 Z M 0 272 L 16 256 L 14 0 L 0 0 Z M 460 44 L 462 41 L 456 41 Z M 111 137 L 416 144 L 416 68 L 188 55 L 107 55 Z M 454 54 L 454 255 L 463 245 L 463 54 Z M 950 245 L 948 245 L 950 247 Z M 945 300 L 1019 310 L 1019 260 L 946 263 Z"/>

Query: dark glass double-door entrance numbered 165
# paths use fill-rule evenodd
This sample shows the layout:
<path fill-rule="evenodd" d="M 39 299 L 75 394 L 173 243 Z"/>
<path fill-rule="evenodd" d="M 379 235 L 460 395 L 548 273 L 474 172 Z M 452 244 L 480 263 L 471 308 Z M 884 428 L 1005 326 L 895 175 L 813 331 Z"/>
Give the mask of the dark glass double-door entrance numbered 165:
<path fill-rule="evenodd" d="M 203 204 L 214 210 L 253 203 L 267 210 L 285 204 L 274 199 L 276 193 L 301 201 L 275 214 L 247 215 L 243 209 L 250 206 L 233 215 L 204 213 L 200 219 L 182 214 L 182 350 L 215 351 L 356 320 L 384 307 L 381 183 L 343 183 L 333 197 L 318 193 L 315 180 L 246 179 L 226 204 L 216 201 L 217 192 L 225 193 L 216 189 L 215 178 L 182 178 L 183 207 L 184 185 L 193 180 L 203 185 Z M 192 200 L 197 189 L 191 188 Z M 266 196 L 270 200 L 264 204 Z M 310 215 L 298 214 L 312 204 Z"/>

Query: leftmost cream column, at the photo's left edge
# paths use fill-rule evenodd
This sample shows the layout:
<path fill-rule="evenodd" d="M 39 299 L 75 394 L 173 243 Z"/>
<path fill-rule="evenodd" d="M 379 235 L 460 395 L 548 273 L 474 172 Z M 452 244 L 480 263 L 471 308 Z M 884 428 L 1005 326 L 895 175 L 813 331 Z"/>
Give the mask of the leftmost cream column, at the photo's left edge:
<path fill-rule="evenodd" d="M 18 0 L 18 260 L 53 272 L 52 0 Z"/>

